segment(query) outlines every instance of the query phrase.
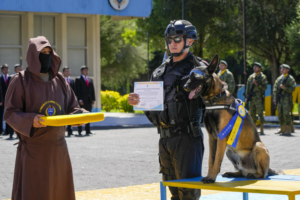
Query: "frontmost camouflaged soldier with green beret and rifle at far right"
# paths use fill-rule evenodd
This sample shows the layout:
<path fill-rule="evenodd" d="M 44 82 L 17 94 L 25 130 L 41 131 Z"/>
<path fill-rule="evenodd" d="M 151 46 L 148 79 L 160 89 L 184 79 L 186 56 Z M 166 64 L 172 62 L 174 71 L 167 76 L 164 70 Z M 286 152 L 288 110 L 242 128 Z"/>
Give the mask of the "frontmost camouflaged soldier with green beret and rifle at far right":
<path fill-rule="evenodd" d="M 273 87 L 274 104 L 278 107 L 278 121 L 280 130 L 275 133 L 283 133 L 291 135 L 291 107 L 292 107 L 292 93 L 296 88 L 295 79 L 288 74 L 290 66 L 287 64 L 280 65 L 280 75 Z M 282 84 L 282 82 L 285 82 Z"/>

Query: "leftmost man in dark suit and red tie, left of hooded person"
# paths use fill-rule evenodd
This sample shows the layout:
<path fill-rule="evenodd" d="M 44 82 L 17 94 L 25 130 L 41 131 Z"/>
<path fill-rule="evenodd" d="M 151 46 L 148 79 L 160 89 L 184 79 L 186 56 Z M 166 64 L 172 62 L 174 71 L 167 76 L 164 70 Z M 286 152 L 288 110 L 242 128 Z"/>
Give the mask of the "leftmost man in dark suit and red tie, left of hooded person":
<path fill-rule="evenodd" d="M 8 88 L 8 84 L 9 81 L 11 79 L 10 76 L 8 76 L 8 64 L 3 64 L 1 66 L 1 78 L 0 78 L 0 82 L 1 82 L 1 88 L 2 88 L 2 97 L 3 97 L 3 104 L 0 106 L 0 133 L 3 132 L 3 127 L 2 127 L 2 122 L 3 122 L 3 113 L 4 113 L 4 101 L 5 101 L 5 95 L 6 95 L 6 91 Z M 11 126 L 8 125 L 8 123 L 5 123 L 5 134 L 8 135 L 9 134 L 9 138 L 13 138 L 13 133 L 14 130 L 11 128 Z"/>

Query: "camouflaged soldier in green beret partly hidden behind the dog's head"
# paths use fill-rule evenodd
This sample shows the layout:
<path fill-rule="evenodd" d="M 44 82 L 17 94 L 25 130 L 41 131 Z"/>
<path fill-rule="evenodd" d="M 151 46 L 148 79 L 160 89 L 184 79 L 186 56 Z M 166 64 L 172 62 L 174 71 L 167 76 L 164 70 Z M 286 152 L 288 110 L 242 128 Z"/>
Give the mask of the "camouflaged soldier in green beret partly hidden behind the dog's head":
<path fill-rule="evenodd" d="M 233 95 L 235 90 L 235 82 L 234 82 L 233 74 L 227 69 L 227 66 L 228 66 L 227 63 L 221 60 L 219 64 L 220 71 L 217 75 L 221 79 L 221 81 L 227 83 L 228 85 L 227 90 L 230 92 L 230 94 Z"/>

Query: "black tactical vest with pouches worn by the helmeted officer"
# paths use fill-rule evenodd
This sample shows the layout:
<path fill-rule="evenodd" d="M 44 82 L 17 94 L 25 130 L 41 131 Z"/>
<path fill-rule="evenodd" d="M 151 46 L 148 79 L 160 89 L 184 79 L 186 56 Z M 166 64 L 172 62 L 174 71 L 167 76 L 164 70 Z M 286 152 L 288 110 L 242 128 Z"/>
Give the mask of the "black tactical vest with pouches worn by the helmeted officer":
<path fill-rule="evenodd" d="M 196 57 L 197 58 L 197 57 Z M 197 58 L 199 62 L 206 66 L 207 63 Z M 155 127 L 158 133 L 162 130 L 172 129 L 176 127 L 188 127 L 191 122 L 200 123 L 202 118 L 202 105 L 200 97 L 189 99 L 189 92 L 183 89 L 183 86 L 189 79 L 189 73 L 194 68 L 193 57 L 190 58 L 178 68 L 166 73 L 168 65 L 170 65 L 170 57 L 153 72 L 151 81 L 163 81 L 164 108 L 163 111 L 145 111 L 147 118 Z M 188 133 L 188 130 L 183 130 Z"/>

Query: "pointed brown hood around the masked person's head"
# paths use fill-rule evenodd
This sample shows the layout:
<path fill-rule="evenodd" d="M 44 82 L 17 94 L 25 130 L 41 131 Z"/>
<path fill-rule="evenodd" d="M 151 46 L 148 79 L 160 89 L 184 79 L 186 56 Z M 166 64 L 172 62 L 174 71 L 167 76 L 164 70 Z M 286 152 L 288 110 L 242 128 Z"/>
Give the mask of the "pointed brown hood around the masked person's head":
<path fill-rule="evenodd" d="M 26 70 L 28 70 L 31 74 L 35 75 L 36 77 L 39 77 L 41 71 L 41 63 L 38 59 L 38 56 L 44 47 L 50 47 L 52 49 L 52 59 L 50 67 L 52 73 L 50 71 L 49 73 L 50 78 L 53 79 L 58 74 L 62 61 L 51 47 L 47 38 L 44 36 L 30 38 L 25 58 L 28 64 Z"/>

